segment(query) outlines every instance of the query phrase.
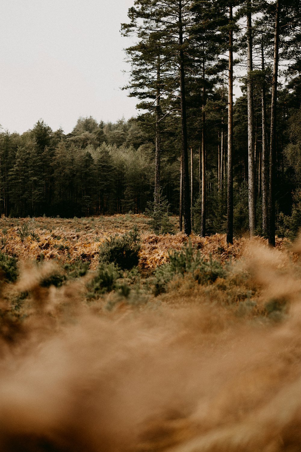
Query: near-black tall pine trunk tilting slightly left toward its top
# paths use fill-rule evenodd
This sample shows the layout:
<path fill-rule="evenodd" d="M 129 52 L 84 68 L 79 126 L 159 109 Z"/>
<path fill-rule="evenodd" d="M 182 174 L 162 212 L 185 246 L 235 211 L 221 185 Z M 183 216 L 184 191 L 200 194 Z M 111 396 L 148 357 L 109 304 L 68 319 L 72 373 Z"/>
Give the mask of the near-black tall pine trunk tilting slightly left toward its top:
<path fill-rule="evenodd" d="M 189 193 L 189 171 L 188 171 L 188 142 L 186 121 L 186 98 L 185 98 L 185 69 L 183 51 L 183 24 L 182 24 L 182 1 L 179 1 L 179 44 L 180 44 L 180 98 L 181 98 L 181 137 L 182 137 L 182 169 L 183 169 L 183 214 L 184 232 L 191 234 L 190 218 L 190 193 Z"/>

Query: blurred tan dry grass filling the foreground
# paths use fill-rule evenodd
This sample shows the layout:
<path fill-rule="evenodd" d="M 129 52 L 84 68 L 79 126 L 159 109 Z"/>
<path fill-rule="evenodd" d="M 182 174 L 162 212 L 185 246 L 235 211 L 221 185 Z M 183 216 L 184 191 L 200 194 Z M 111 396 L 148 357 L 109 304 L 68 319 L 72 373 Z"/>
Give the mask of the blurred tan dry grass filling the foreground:
<path fill-rule="evenodd" d="M 23 268 L 31 315 L 2 319 L 1 451 L 300 450 L 301 278 L 287 254 L 250 244 L 233 270 L 287 303 L 278 323 L 181 291 L 105 313 L 82 303 L 83 283 L 41 288 L 47 271 Z"/>

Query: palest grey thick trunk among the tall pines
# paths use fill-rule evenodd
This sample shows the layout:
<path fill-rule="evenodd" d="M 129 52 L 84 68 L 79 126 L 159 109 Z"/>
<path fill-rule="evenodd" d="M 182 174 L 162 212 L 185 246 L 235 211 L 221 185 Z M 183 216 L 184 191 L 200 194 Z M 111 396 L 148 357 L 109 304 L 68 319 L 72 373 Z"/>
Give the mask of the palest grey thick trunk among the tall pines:
<path fill-rule="evenodd" d="M 254 101 L 253 101 L 253 59 L 252 59 L 252 14 L 251 0 L 247 0 L 247 98 L 248 98 L 248 187 L 249 187 L 249 232 L 255 231 L 255 161 L 254 161 Z"/>

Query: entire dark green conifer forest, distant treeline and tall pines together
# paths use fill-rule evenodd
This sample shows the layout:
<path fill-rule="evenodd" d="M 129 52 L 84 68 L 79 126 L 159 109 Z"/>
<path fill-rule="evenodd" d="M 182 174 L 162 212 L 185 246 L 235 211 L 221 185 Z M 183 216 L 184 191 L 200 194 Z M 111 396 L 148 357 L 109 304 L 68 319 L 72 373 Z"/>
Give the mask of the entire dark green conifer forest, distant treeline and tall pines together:
<path fill-rule="evenodd" d="M 301 225 L 301 5 L 136 0 L 128 121 L 42 119 L 0 133 L 0 214 L 73 217 L 169 204 L 184 231 L 296 235 Z M 233 79 L 242 95 L 233 102 Z"/>

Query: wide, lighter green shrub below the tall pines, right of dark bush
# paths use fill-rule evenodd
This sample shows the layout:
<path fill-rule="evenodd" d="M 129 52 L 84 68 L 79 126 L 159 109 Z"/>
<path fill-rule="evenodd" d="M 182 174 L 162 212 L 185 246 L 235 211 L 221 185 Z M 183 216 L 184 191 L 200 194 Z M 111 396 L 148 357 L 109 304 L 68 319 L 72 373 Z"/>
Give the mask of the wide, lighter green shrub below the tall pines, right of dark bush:
<path fill-rule="evenodd" d="M 184 273 L 192 273 L 199 284 L 208 284 L 217 278 L 224 278 L 226 272 L 219 261 L 212 259 L 211 254 L 206 260 L 189 241 L 189 245 L 184 245 L 181 251 L 169 253 L 169 262 L 156 269 L 153 279 L 154 294 L 165 292 L 167 283 L 174 276 Z"/>

